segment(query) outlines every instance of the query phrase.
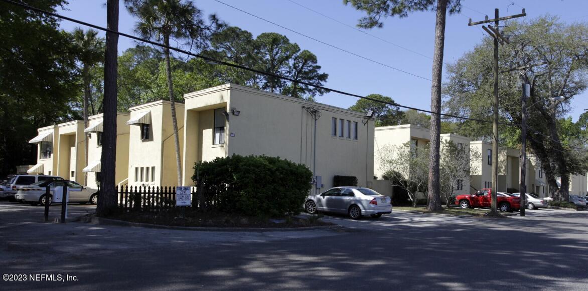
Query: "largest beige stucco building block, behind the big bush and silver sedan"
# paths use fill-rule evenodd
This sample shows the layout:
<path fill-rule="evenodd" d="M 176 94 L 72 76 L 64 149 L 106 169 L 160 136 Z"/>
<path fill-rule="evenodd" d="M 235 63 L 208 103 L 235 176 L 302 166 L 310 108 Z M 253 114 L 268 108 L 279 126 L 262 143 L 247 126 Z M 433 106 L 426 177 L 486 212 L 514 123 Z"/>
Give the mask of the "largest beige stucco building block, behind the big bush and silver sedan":
<path fill-rule="evenodd" d="M 305 164 L 320 176 L 318 190 L 335 175 L 373 181 L 373 120 L 365 114 L 235 84 L 184 95 L 184 185 L 193 185 L 198 161 L 239 155 L 269 155 Z M 315 123 L 312 112 L 318 112 Z M 316 160 L 315 160 L 316 159 Z"/>

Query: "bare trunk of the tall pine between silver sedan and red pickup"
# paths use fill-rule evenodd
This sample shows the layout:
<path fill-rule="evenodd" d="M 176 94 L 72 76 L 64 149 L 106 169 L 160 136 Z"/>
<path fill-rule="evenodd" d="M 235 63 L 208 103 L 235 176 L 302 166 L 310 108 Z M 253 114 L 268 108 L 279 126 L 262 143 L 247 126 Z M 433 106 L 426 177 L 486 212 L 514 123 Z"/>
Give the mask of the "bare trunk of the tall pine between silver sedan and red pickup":
<path fill-rule="evenodd" d="M 439 181 L 439 150 L 441 134 L 441 81 L 443 73 L 443 48 L 445 46 L 445 17 L 447 0 L 437 0 L 437 17 L 435 23 L 435 52 L 433 54 L 433 82 L 431 86 L 431 140 L 429 155 L 429 194 L 427 209 L 441 211 L 441 194 Z"/>

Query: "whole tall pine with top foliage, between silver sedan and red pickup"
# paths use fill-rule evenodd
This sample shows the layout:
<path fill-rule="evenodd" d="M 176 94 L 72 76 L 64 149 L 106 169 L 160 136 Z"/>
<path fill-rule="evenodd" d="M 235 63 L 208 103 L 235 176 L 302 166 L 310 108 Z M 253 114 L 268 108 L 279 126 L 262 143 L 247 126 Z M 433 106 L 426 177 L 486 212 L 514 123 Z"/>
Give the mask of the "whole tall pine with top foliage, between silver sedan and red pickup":
<path fill-rule="evenodd" d="M 436 2 L 436 3 L 435 3 Z M 431 84 L 431 141 L 429 156 L 429 197 L 427 209 L 441 211 L 441 184 L 439 175 L 440 160 L 440 134 L 441 134 L 441 81 L 443 72 L 443 47 L 445 46 L 445 18 L 447 6 L 449 13 L 457 13 L 461 9 L 461 0 L 343 0 L 343 3 L 351 3 L 358 10 L 368 13 L 368 16 L 360 19 L 359 26 L 373 28 L 383 26 L 380 18 L 386 16 L 406 17 L 413 11 L 436 11 L 435 21 L 435 51 L 433 52 L 433 82 Z"/>

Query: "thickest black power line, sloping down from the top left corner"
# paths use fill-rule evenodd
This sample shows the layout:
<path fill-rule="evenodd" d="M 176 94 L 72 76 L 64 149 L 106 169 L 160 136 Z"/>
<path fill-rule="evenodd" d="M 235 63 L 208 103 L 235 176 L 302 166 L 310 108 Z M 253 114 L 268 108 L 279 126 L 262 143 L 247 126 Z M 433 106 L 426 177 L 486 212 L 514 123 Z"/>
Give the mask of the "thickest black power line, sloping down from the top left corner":
<path fill-rule="evenodd" d="M 187 50 L 173 48 L 172 46 L 163 45 L 162 43 L 154 42 L 154 41 L 149 40 L 149 39 L 143 39 L 143 38 L 139 38 L 137 36 L 129 35 L 127 33 L 113 31 L 112 29 L 104 28 L 102 26 L 94 25 L 94 24 L 88 23 L 88 22 L 79 21 L 79 20 L 74 19 L 74 18 L 69 18 L 67 16 L 63 16 L 63 15 L 59 15 L 57 13 L 45 11 L 45 10 L 42 10 L 42 9 L 39 9 L 39 8 L 35 8 L 33 6 L 22 4 L 22 3 L 19 3 L 19 2 L 14 2 L 12 0 L 0 0 L 0 1 L 6 2 L 6 3 L 9 3 L 9 4 L 13 4 L 13 5 L 16 5 L 16 6 L 21 6 L 23 8 L 26 8 L 26 9 L 29 9 L 29 10 L 32 10 L 32 11 L 44 13 L 46 15 L 54 16 L 54 17 L 59 18 L 59 19 L 64 19 L 66 21 L 71 21 L 71 22 L 75 22 L 75 23 L 78 23 L 78 24 L 81 24 L 81 25 L 89 26 L 91 28 L 95 28 L 95 29 L 98 29 L 98 30 L 101 30 L 101 31 L 115 33 L 117 35 L 125 36 L 126 38 L 130 38 L 130 39 L 134 39 L 134 40 L 139 40 L 140 42 L 149 43 L 151 45 L 159 46 L 161 48 L 171 49 L 171 50 L 174 50 L 176 52 L 183 53 L 185 55 L 189 55 L 189 56 L 193 56 L 193 57 L 198 57 L 199 59 L 208 60 L 209 62 L 218 63 L 219 65 L 224 65 L 224 66 L 229 66 L 229 67 L 235 67 L 237 69 L 242 69 L 242 70 L 248 70 L 249 72 L 258 73 L 258 74 L 261 74 L 261 75 L 275 77 L 275 78 L 282 79 L 282 80 L 288 80 L 290 82 L 304 84 L 306 86 L 314 87 L 314 88 L 317 88 L 317 89 L 323 89 L 323 90 L 327 90 L 327 91 L 330 91 L 330 92 L 335 92 L 335 93 L 339 93 L 339 94 L 346 95 L 346 96 L 357 97 L 357 98 L 360 98 L 360 99 L 366 99 L 366 100 L 370 100 L 370 101 L 375 101 L 375 102 L 378 102 L 378 103 L 388 104 L 388 105 L 391 105 L 391 106 L 397 106 L 397 107 L 401 107 L 401 108 L 404 108 L 404 109 L 412 109 L 412 110 L 416 110 L 416 111 L 421 111 L 421 112 L 430 113 L 430 114 L 438 114 L 440 116 L 452 117 L 452 118 L 456 118 L 456 119 L 465 119 L 465 120 L 480 121 L 480 122 L 490 122 L 490 121 L 482 120 L 482 119 L 472 119 L 472 118 L 465 117 L 465 116 L 455 116 L 455 115 L 452 115 L 452 114 L 437 113 L 437 112 L 433 112 L 433 111 L 430 111 L 430 110 L 418 109 L 416 107 L 410 107 L 410 106 L 405 106 L 405 105 L 401 105 L 401 104 L 398 104 L 398 103 L 386 102 L 386 101 L 377 100 L 377 99 L 373 99 L 373 98 L 366 97 L 366 96 L 361 96 L 361 95 L 358 95 L 358 94 L 353 94 L 353 93 L 345 92 L 345 91 L 342 91 L 342 90 L 332 89 L 332 88 L 325 87 L 325 86 L 319 86 L 319 85 L 316 85 L 316 84 L 312 84 L 312 83 L 308 83 L 308 82 L 304 82 L 304 81 L 300 81 L 300 80 L 295 80 L 295 79 L 292 79 L 292 78 L 289 78 L 289 77 L 279 76 L 279 75 L 275 75 L 273 73 L 263 72 L 261 70 L 256 70 L 256 69 L 251 69 L 249 67 L 245 67 L 245 66 L 241 66 L 241 65 L 236 65 L 234 63 L 224 62 L 222 60 L 216 60 L 216 59 L 213 59 L 212 57 L 202 56 L 202 55 L 198 55 L 196 53 L 188 52 Z M 502 125 L 510 126 L 510 125 L 514 125 L 514 124 L 502 124 Z"/>

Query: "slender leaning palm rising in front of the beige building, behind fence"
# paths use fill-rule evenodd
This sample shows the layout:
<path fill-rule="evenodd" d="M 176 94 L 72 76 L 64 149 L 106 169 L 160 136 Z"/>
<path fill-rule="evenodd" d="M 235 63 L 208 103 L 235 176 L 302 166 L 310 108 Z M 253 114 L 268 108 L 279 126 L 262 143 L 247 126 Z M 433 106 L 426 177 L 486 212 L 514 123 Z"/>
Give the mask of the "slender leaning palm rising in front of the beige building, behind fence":
<path fill-rule="evenodd" d="M 173 96 L 172 68 L 170 63 L 169 40 L 193 40 L 198 38 L 201 25 L 201 11 L 192 2 L 181 0 L 127 0 L 127 9 L 139 18 L 135 32 L 142 38 L 163 41 L 165 55 L 165 73 L 168 79 L 168 97 L 172 109 L 173 138 L 176 150 L 178 185 L 182 185 L 182 161 L 178 134 L 178 120 Z"/>

